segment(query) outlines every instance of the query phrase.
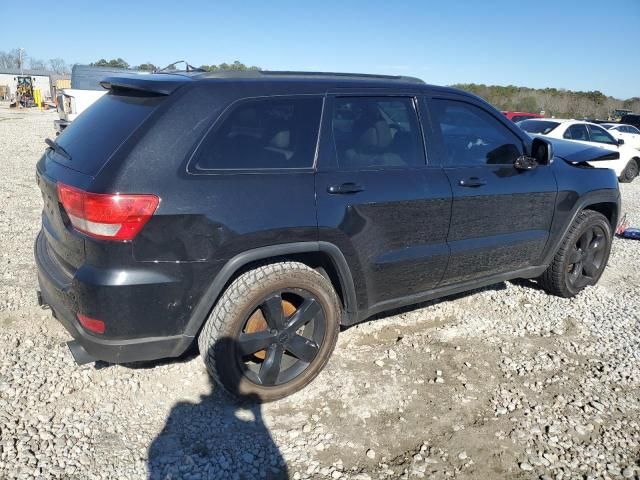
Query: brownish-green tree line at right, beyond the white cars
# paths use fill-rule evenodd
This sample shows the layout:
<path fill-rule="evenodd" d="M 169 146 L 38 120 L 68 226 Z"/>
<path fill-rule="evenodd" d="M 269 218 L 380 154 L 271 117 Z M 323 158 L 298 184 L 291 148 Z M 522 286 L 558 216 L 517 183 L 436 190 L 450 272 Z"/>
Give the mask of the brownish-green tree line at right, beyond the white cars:
<path fill-rule="evenodd" d="M 466 90 L 500 110 L 540 113 L 556 118 L 598 118 L 606 120 L 616 109 L 640 111 L 640 97 L 620 100 L 598 90 L 591 92 L 557 88 L 527 88 L 460 83 L 453 87 Z"/>

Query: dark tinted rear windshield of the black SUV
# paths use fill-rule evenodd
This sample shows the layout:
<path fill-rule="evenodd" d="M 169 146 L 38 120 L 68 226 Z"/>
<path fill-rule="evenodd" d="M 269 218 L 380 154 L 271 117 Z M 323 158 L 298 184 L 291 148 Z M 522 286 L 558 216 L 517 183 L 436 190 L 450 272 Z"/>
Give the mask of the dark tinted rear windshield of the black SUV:
<path fill-rule="evenodd" d="M 164 98 L 137 94 L 104 95 L 56 139 L 71 159 L 55 154 L 54 160 L 87 175 L 95 175 Z"/>

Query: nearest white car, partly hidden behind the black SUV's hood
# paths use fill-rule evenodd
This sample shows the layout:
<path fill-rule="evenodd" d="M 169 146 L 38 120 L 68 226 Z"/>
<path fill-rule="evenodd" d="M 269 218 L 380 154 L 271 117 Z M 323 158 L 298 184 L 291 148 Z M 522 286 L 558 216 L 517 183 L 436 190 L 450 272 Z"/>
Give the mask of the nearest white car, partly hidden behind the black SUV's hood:
<path fill-rule="evenodd" d="M 561 138 L 618 152 L 620 158 L 617 160 L 598 161 L 590 165 L 596 168 L 612 169 L 621 182 L 631 182 L 640 171 L 640 151 L 614 138 L 607 130 L 595 123 L 558 118 L 532 118 L 518 122 L 517 125 L 529 134 Z"/>

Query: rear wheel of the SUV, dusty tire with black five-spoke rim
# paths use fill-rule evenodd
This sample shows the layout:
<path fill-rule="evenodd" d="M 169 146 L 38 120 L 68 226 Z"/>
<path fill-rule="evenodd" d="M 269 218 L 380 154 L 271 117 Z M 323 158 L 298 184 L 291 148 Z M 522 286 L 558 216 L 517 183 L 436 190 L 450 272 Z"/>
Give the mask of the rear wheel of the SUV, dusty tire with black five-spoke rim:
<path fill-rule="evenodd" d="M 322 274 L 298 262 L 264 265 L 224 291 L 200 332 L 200 355 L 231 395 L 277 400 L 304 388 L 324 368 L 338 339 L 340 314 L 338 296 Z M 255 351 L 258 345 L 265 348 Z"/>

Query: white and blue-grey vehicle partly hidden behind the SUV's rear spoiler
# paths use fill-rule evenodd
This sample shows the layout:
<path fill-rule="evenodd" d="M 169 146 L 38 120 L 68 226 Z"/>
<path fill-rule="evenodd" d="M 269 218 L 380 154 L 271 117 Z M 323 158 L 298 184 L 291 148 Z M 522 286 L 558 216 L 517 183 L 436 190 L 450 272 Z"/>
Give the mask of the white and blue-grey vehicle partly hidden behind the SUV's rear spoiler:
<path fill-rule="evenodd" d="M 102 97 L 107 91 L 100 81 L 108 75 L 135 74 L 148 72 L 124 70 L 113 67 L 94 67 L 91 65 L 74 65 L 71 71 L 71 88 L 62 89 L 58 93 L 58 115 L 53 125 L 59 135 L 78 115 Z"/>

